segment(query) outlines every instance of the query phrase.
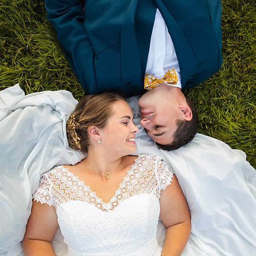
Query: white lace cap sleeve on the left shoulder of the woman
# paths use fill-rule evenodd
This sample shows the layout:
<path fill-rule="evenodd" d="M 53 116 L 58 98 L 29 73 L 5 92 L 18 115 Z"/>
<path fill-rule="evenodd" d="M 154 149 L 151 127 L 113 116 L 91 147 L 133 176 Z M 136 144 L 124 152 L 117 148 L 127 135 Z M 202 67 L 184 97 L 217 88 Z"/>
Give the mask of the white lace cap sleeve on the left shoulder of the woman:
<path fill-rule="evenodd" d="M 40 203 L 47 203 L 49 205 L 54 205 L 52 193 L 51 193 L 51 181 L 47 174 L 41 176 L 39 185 L 32 195 L 32 198 Z"/>

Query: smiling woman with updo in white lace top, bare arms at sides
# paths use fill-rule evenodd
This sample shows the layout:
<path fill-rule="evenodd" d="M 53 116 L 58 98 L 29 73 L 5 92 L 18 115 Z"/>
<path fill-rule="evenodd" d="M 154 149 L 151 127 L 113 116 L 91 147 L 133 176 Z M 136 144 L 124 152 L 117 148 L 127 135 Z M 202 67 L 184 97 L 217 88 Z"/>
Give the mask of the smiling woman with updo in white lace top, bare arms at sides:
<path fill-rule="evenodd" d="M 84 97 L 67 124 L 69 145 L 87 155 L 41 176 L 33 195 L 25 255 L 56 255 L 58 228 L 68 255 L 180 255 L 190 234 L 186 199 L 171 168 L 158 156 L 139 155 L 138 128 L 125 98 Z M 157 244 L 159 216 L 167 227 Z"/>

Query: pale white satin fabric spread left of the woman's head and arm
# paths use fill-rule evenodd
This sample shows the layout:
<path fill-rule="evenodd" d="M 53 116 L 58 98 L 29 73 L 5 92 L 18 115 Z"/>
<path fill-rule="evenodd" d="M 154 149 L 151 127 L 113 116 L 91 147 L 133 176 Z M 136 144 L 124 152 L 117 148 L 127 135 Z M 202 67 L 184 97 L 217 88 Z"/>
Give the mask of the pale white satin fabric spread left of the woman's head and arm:
<path fill-rule="evenodd" d="M 66 136 L 76 104 L 67 91 L 25 96 L 16 85 L 0 92 L 0 253 L 23 239 L 40 175 L 57 162 L 81 159 Z"/>

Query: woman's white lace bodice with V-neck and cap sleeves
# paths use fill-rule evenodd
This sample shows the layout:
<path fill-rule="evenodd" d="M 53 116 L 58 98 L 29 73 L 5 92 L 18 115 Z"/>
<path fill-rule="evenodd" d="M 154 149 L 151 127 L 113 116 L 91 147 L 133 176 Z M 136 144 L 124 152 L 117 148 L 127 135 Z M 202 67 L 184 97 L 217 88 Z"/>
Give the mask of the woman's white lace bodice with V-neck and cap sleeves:
<path fill-rule="evenodd" d="M 109 203 L 67 168 L 42 175 L 33 198 L 54 205 L 72 256 L 161 255 L 156 231 L 161 189 L 172 181 L 158 156 L 140 155 Z"/>

